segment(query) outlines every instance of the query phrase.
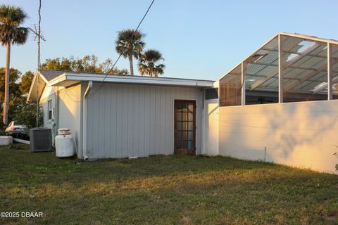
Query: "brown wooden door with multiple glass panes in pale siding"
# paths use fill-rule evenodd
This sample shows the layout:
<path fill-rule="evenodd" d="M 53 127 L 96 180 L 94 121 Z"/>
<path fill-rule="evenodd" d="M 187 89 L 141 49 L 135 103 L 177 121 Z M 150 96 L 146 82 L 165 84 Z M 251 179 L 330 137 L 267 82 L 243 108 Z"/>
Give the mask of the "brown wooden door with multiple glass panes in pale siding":
<path fill-rule="evenodd" d="M 175 100 L 174 153 L 196 154 L 196 101 Z"/>

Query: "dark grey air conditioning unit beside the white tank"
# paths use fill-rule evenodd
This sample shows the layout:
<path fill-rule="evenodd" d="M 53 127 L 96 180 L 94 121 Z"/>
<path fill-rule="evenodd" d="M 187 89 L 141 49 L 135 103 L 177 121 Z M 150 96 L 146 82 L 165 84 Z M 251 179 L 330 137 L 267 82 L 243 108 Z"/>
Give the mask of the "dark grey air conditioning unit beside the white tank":
<path fill-rule="evenodd" d="M 46 127 L 30 129 L 30 150 L 32 152 L 51 150 L 51 129 Z"/>

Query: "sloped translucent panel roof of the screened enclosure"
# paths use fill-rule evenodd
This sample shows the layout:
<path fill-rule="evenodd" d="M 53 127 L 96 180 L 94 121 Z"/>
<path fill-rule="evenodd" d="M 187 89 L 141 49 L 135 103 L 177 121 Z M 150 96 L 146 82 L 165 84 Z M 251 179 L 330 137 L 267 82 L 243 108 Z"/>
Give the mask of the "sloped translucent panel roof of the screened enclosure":
<path fill-rule="evenodd" d="M 284 92 L 327 92 L 327 44 L 332 46 L 332 81 L 338 82 L 338 41 L 285 32 L 276 34 L 219 82 L 240 79 L 244 63 L 246 90 L 278 91 L 279 35 L 282 38 Z"/>

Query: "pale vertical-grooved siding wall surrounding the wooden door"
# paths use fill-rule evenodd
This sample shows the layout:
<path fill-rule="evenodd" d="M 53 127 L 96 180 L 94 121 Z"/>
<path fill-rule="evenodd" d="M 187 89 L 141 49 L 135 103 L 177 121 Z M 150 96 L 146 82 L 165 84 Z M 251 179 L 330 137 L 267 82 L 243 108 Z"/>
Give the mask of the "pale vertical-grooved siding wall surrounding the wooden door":
<path fill-rule="evenodd" d="M 201 89 L 104 84 L 96 91 L 99 86 L 94 83 L 88 96 L 89 159 L 173 154 L 174 99 L 196 100 L 196 154 L 201 153 Z"/>

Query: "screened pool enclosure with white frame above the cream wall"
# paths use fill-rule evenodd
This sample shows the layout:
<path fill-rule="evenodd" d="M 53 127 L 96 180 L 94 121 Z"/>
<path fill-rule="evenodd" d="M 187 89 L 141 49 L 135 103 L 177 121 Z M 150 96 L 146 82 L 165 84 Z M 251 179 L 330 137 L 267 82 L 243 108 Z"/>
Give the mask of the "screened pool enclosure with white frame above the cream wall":
<path fill-rule="evenodd" d="M 219 79 L 220 106 L 338 98 L 338 41 L 280 32 Z"/>

